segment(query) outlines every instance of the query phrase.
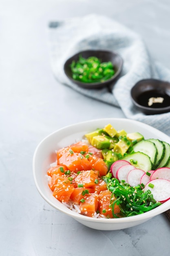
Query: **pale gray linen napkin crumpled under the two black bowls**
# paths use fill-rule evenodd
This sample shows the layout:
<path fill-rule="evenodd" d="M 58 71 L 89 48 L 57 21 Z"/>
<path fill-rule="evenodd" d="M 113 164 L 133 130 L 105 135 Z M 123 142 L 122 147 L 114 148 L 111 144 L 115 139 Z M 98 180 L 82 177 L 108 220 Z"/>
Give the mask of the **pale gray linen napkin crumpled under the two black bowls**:
<path fill-rule="evenodd" d="M 130 89 L 141 79 L 170 81 L 170 70 L 151 59 L 142 38 L 113 19 L 97 14 L 49 24 L 51 67 L 55 78 L 81 94 L 122 109 L 129 119 L 142 121 L 170 135 L 170 113 L 145 115 L 133 106 Z M 84 89 L 68 80 L 65 61 L 87 49 L 117 52 L 124 60 L 119 79 L 110 88 Z"/>

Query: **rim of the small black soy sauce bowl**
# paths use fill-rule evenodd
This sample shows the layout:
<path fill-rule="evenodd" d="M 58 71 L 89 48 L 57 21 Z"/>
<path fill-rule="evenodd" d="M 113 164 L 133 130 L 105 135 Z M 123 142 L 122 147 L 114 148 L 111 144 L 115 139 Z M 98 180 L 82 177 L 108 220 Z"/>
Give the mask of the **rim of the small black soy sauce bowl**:
<path fill-rule="evenodd" d="M 137 86 L 140 84 L 140 83 L 145 83 L 145 82 L 149 82 L 149 81 L 155 81 L 155 82 L 158 82 L 158 83 L 168 83 L 170 85 L 170 82 L 168 81 L 163 81 L 163 80 L 159 80 L 159 79 L 153 79 L 153 78 L 150 78 L 150 79 L 141 79 L 139 81 L 137 81 L 137 83 L 135 83 L 135 85 L 133 85 L 133 87 L 131 88 L 130 90 L 130 96 L 131 96 L 131 99 L 133 101 L 133 103 L 138 107 L 138 108 L 142 108 L 143 110 L 149 110 L 150 112 L 161 112 L 161 111 L 166 111 L 166 110 L 169 110 L 170 109 L 170 106 L 167 106 L 167 107 L 164 107 L 164 108 L 150 108 L 150 107 L 146 107 L 146 106 L 142 106 L 140 105 L 139 103 L 137 103 L 137 101 L 134 99 L 134 97 L 132 96 L 132 91 L 135 90 L 135 88 L 137 88 Z M 157 90 L 157 88 L 155 88 L 155 90 Z M 145 90 L 146 92 L 147 90 Z M 140 95 L 140 94 L 139 94 Z"/>

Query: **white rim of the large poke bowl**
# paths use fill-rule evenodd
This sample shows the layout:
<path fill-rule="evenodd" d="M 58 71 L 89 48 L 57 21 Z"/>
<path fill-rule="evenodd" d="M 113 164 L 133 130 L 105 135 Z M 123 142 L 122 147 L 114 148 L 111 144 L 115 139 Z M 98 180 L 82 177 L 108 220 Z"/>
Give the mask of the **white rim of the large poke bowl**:
<path fill-rule="evenodd" d="M 65 213 L 68 216 L 71 216 L 72 218 L 75 218 L 77 220 L 86 220 L 88 222 L 99 222 L 99 223 L 125 223 L 125 222 L 138 222 L 140 220 L 148 220 L 154 216 L 157 216 L 165 211 L 167 211 L 168 209 L 170 209 L 170 200 L 164 202 L 163 204 L 161 204 L 160 206 L 156 207 L 155 209 L 152 209 L 148 212 L 145 213 L 141 213 L 139 215 L 135 215 L 135 216 L 129 216 L 129 217 L 123 217 L 123 218 L 110 218 L 110 219 L 106 219 L 106 218 L 91 218 L 88 216 L 84 216 L 82 214 L 76 213 L 70 209 L 68 209 L 68 207 L 64 206 L 64 209 L 61 209 L 60 207 L 57 207 L 56 204 L 54 204 L 53 202 L 51 202 L 49 200 L 49 198 L 46 197 L 46 195 L 44 195 L 44 193 L 41 191 L 40 186 L 39 186 L 39 182 L 37 180 L 36 177 L 36 170 L 35 170 L 35 160 L 36 160 L 36 155 L 38 153 L 39 148 L 41 147 L 42 143 L 44 141 L 46 141 L 47 139 L 49 139 L 49 137 L 53 136 L 55 133 L 60 132 L 63 129 L 68 129 L 77 125 L 83 125 L 83 124 L 90 124 L 91 122 L 95 122 L 95 121 L 122 121 L 122 122 L 130 122 L 132 124 L 139 124 L 140 126 L 144 127 L 144 128 L 152 128 L 153 131 L 158 132 L 159 135 L 163 135 L 163 137 L 167 137 L 167 139 L 170 140 L 169 136 L 166 135 L 165 133 L 157 130 L 156 128 L 149 126 L 148 124 L 144 124 L 141 123 L 140 121 L 136 121 L 136 120 L 132 120 L 132 119 L 126 119 L 126 118 L 102 118 L 102 119 L 91 119 L 88 121 L 82 121 L 82 122 L 78 122 L 76 124 L 71 124 L 68 126 L 64 126 L 63 128 L 60 128 L 58 130 L 55 130 L 54 132 L 52 132 L 51 134 L 47 135 L 44 139 L 42 139 L 42 141 L 40 141 L 40 143 L 38 144 L 38 146 L 35 148 L 35 152 L 33 154 L 33 178 L 34 178 L 34 182 L 35 182 L 35 186 L 38 189 L 38 192 L 40 193 L 40 195 L 42 196 L 42 198 L 48 203 L 50 204 L 53 208 L 55 208 L 56 210 Z M 59 205 L 63 205 L 61 202 L 56 201 L 57 204 Z"/>

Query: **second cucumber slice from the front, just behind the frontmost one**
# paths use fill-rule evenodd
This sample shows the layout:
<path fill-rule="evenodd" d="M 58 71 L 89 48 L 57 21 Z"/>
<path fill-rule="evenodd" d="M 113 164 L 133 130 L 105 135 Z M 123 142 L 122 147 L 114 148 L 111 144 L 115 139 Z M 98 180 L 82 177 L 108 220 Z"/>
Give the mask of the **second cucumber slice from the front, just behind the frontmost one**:
<path fill-rule="evenodd" d="M 157 148 L 155 144 L 148 140 L 139 141 L 137 144 L 133 146 L 133 151 L 142 152 L 150 157 L 150 161 L 152 162 L 152 166 L 155 165 L 157 159 Z"/>

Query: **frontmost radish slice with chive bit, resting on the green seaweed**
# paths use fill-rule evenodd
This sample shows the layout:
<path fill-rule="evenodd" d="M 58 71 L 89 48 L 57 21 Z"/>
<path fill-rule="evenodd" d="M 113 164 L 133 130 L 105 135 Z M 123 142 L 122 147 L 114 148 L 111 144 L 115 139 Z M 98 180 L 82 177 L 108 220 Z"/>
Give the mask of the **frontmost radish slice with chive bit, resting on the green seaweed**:
<path fill-rule="evenodd" d="M 170 199 L 170 181 L 166 179 L 151 180 L 144 187 L 144 192 L 150 190 L 153 198 L 161 203 Z"/>

